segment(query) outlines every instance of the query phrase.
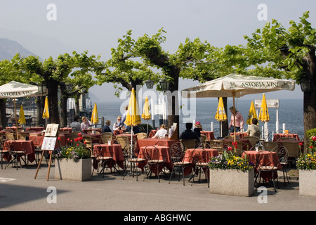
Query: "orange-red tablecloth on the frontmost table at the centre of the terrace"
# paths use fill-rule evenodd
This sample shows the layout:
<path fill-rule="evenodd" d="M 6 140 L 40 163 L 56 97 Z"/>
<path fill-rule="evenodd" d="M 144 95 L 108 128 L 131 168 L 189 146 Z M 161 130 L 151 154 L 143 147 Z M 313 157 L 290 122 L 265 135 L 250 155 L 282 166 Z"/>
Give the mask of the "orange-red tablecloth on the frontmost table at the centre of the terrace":
<path fill-rule="evenodd" d="M 155 147 L 155 148 L 154 148 Z M 150 155 L 159 155 L 159 159 L 158 158 L 153 158 L 154 160 L 165 160 L 164 165 L 166 165 L 166 167 L 172 171 L 172 160 L 169 154 L 169 147 L 168 146 L 148 146 L 147 149 L 149 149 Z M 145 158 L 145 148 L 146 146 L 143 146 L 140 148 L 139 154 L 138 154 L 138 158 Z M 154 153 L 154 150 L 159 150 L 159 153 Z M 146 163 L 139 163 L 138 167 L 140 167 L 140 169 L 143 170 L 143 167 L 146 165 Z M 152 172 L 154 172 L 154 174 L 158 174 L 160 172 L 162 172 L 162 169 L 164 168 L 163 165 L 159 166 L 159 170 L 157 170 L 157 167 L 150 167 L 150 169 L 152 169 Z"/>

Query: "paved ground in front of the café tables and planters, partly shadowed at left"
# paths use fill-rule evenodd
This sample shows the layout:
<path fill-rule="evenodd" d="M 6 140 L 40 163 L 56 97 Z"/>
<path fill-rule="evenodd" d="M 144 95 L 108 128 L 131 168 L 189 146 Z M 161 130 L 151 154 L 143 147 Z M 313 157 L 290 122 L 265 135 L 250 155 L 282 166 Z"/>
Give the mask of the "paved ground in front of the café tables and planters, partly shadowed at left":
<path fill-rule="evenodd" d="M 36 165 L 18 168 L 11 165 L 0 169 L 0 211 L 120 211 L 124 215 L 133 212 L 197 212 L 197 211 L 313 211 L 316 210 L 316 198 L 303 197 L 298 193 L 298 180 L 291 179 L 284 186 L 279 179 L 279 189 L 273 190 L 266 184 L 268 195 L 265 203 L 259 203 L 261 192 L 255 191 L 251 197 L 214 195 L 209 193 L 205 181 L 200 184 L 173 178 L 157 177 L 145 179 L 141 174 L 136 177 L 105 171 L 105 177 L 96 174 L 91 181 L 64 181 L 54 178 L 54 165 L 51 167 L 49 180 L 46 181 L 48 167 L 42 162 L 37 179 Z M 120 170 L 122 172 L 122 170 Z M 281 175 L 281 174 L 280 174 Z M 233 188 L 234 184 L 232 184 Z M 55 203 L 48 203 L 53 198 L 51 190 L 57 195 Z M 214 214 L 215 215 L 215 214 Z"/>

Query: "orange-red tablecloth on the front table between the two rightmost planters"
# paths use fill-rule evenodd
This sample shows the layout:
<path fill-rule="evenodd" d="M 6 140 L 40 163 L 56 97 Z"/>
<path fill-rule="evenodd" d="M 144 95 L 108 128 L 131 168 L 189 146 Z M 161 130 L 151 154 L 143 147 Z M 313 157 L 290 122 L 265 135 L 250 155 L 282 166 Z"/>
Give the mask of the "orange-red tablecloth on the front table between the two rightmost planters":
<path fill-rule="evenodd" d="M 252 162 L 255 165 L 255 172 L 258 173 L 258 169 L 256 169 L 257 165 L 256 163 L 259 162 L 260 165 L 266 165 L 267 162 L 272 162 L 271 166 L 276 166 L 277 169 L 282 169 L 282 165 L 279 164 L 279 158 L 277 157 L 277 153 L 275 152 L 269 152 L 269 151 L 263 151 L 261 152 L 263 155 L 261 155 L 261 158 L 258 158 L 258 152 L 255 150 L 248 150 L 242 153 L 242 158 L 247 155 L 247 158 L 249 162 Z M 272 179 L 271 172 L 261 172 L 261 177 L 264 181 L 268 182 L 270 179 Z M 277 177 L 277 172 L 275 172 L 274 177 Z"/>

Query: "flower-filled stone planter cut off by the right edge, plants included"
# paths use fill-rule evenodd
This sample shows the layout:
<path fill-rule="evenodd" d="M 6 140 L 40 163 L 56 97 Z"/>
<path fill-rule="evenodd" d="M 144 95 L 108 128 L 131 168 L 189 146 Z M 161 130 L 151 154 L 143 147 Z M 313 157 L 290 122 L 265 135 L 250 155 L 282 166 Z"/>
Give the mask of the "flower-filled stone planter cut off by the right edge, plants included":
<path fill-rule="evenodd" d="M 316 129 L 311 129 L 307 134 L 316 134 Z M 299 194 L 316 197 L 316 135 L 310 135 L 308 153 L 301 153 L 296 161 L 299 171 Z"/>

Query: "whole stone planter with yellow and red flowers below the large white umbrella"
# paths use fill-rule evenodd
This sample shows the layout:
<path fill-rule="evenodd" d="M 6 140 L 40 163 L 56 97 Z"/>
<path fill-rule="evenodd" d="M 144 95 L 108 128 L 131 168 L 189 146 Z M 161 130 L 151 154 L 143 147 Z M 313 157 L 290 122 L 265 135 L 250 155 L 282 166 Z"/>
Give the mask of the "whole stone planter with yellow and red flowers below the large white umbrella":
<path fill-rule="evenodd" d="M 251 196 L 254 194 L 254 165 L 232 153 L 232 148 L 209 161 L 210 193 Z"/>

